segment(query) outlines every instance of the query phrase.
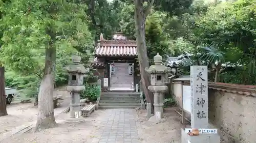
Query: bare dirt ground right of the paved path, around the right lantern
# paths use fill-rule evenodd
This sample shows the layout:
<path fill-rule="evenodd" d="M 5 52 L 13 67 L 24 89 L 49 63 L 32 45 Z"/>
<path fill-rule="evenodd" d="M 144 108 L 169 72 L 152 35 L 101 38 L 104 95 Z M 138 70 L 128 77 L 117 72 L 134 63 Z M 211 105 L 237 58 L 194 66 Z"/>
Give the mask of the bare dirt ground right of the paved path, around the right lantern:
<path fill-rule="evenodd" d="M 164 122 L 152 123 L 146 118 L 146 110 L 138 110 L 141 140 L 150 143 L 181 142 L 181 117 L 175 112 L 176 107 L 164 108 Z M 143 142 L 143 141 L 142 141 Z"/>

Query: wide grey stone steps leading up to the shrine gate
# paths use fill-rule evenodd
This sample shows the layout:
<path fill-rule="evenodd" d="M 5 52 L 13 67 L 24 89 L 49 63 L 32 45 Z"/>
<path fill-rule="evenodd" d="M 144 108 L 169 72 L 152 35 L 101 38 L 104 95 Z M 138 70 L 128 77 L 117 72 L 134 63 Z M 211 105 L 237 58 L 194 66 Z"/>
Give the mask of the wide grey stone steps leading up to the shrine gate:
<path fill-rule="evenodd" d="M 107 92 L 102 93 L 99 101 L 101 109 L 136 108 L 140 107 L 140 94 L 137 92 Z"/>

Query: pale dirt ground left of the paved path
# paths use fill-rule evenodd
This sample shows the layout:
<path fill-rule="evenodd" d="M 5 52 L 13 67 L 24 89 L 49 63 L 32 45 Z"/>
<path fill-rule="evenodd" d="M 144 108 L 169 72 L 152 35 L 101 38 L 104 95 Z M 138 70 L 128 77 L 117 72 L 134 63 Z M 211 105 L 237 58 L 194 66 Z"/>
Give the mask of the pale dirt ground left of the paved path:
<path fill-rule="evenodd" d="M 35 126 L 37 117 L 37 107 L 33 106 L 33 103 L 18 103 L 18 101 L 13 101 L 7 106 L 8 116 L 0 118 L 0 142 L 1 143 L 14 143 L 14 142 L 90 142 L 93 137 L 91 135 L 94 130 L 97 130 L 100 125 L 99 119 L 105 117 L 104 110 L 95 111 L 89 118 L 86 118 L 86 122 L 79 125 L 68 125 L 64 122 L 66 118 L 69 117 L 69 113 L 61 113 L 65 110 L 70 103 L 70 94 L 65 91 L 65 87 L 55 89 L 54 96 L 62 95 L 60 100 L 60 105 L 58 108 L 54 109 L 55 120 L 58 127 L 43 130 L 40 132 L 33 132 L 29 130 L 23 134 L 17 133 L 10 137 L 4 137 L 10 135 L 10 132 L 16 132 L 18 127 L 23 127 L 24 125 L 33 124 Z M 56 117 L 57 115 L 57 117 Z"/>

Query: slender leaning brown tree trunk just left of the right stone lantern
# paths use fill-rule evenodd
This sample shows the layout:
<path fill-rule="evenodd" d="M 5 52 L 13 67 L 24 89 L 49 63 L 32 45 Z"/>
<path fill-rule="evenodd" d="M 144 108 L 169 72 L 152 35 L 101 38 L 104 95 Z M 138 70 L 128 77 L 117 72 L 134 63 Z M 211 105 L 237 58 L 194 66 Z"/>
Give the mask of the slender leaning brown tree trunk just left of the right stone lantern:
<path fill-rule="evenodd" d="M 146 50 L 145 39 L 145 14 L 143 11 L 143 1 L 135 0 L 135 23 L 136 23 L 136 36 L 137 36 L 137 52 L 140 66 L 140 76 L 142 80 L 142 87 L 147 102 L 151 103 L 151 112 L 154 113 L 154 96 L 147 87 L 150 86 L 150 76 L 146 73 L 145 68 L 149 67 Z"/>

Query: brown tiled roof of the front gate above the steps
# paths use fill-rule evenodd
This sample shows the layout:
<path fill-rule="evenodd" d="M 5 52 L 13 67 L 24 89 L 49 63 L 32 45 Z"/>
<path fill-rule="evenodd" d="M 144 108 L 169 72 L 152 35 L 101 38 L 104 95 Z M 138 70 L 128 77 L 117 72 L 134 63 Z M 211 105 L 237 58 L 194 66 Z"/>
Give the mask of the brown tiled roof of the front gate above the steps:
<path fill-rule="evenodd" d="M 95 56 L 137 56 L 136 41 L 99 41 L 94 51 Z"/>

